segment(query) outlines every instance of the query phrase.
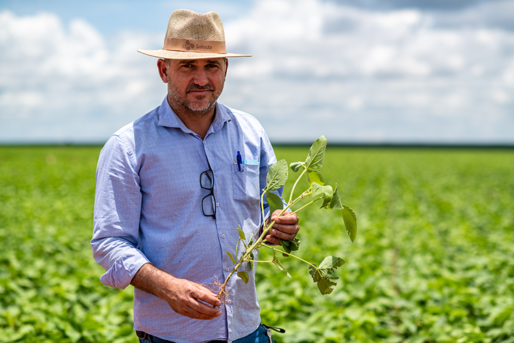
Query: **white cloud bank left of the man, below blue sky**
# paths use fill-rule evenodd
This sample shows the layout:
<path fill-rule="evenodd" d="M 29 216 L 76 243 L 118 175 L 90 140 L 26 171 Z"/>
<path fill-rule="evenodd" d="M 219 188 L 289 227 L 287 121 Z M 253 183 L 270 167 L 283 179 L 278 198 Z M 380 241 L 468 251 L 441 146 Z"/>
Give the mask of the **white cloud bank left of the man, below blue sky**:
<path fill-rule="evenodd" d="M 64 27 L 55 14 L 8 11 L 0 32 L 1 141 L 101 141 L 164 96 L 135 51 L 154 36 L 108 42 L 81 19 Z"/>

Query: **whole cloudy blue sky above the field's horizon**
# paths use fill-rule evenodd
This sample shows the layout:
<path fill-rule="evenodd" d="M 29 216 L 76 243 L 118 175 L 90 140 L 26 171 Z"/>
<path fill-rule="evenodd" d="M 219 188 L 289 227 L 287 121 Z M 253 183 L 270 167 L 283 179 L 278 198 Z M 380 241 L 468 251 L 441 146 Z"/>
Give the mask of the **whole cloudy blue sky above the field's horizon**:
<path fill-rule="evenodd" d="M 0 0 L 0 143 L 104 143 L 160 105 L 173 10 L 218 12 L 219 102 L 272 143 L 514 144 L 514 0 Z"/>

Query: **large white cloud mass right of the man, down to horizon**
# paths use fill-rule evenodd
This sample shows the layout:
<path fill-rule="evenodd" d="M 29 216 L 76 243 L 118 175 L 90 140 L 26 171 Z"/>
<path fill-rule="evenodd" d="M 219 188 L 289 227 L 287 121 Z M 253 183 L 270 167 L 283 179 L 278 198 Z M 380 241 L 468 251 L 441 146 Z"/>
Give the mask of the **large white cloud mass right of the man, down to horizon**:
<path fill-rule="evenodd" d="M 232 68 L 237 86 L 225 99 L 258 115 L 277 141 L 324 133 L 336 141 L 512 143 L 514 32 L 439 27 L 438 15 L 259 1 L 227 25 L 234 51 L 254 58 Z M 238 97 L 247 83 L 256 96 Z"/>

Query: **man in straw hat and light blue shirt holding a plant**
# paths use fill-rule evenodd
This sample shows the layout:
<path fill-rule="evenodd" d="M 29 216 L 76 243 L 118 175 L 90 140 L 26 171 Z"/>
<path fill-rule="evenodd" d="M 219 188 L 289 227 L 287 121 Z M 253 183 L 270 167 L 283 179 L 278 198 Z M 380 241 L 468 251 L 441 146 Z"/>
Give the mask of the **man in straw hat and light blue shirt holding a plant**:
<path fill-rule="evenodd" d="M 106 269 L 100 280 L 134 285 L 140 342 L 269 342 L 255 270 L 242 265 L 249 282 L 232 277 L 224 303 L 208 288 L 232 270 L 226 252 L 236 253 L 238 226 L 258 236 L 260 193 L 276 162 L 258 121 L 217 102 L 227 58 L 249 55 L 226 52 L 215 12 L 188 10 L 171 14 L 163 49 L 138 51 L 163 58 L 157 66 L 168 95 L 101 151 L 91 240 Z M 267 240 L 293 239 L 298 217 L 276 215 Z"/>

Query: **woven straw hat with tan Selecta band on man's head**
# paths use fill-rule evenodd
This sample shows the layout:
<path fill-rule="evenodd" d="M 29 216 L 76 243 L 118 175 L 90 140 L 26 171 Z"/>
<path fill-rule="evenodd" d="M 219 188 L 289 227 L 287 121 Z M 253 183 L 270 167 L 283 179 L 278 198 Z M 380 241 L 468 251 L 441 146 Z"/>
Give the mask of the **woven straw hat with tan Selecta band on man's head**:
<path fill-rule="evenodd" d="M 199 14 L 190 10 L 176 10 L 171 14 L 162 49 L 138 51 L 171 60 L 252 56 L 227 53 L 223 23 L 216 12 Z"/>

